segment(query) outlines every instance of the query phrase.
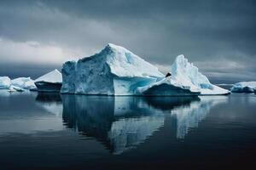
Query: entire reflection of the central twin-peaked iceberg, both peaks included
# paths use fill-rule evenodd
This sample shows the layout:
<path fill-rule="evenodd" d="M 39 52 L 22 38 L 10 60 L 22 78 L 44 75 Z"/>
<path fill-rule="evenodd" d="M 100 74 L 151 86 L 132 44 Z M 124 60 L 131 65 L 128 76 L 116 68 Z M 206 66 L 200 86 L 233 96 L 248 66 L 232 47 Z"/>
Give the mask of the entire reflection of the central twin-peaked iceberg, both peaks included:
<path fill-rule="evenodd" d="M 61 99 L 62 118 L 67 127 L 101 141 L 113 154 L 120 154 L 142 144 L 169 121 L 173 123 L 175 138 L 183 139 L 189 128 L 197 127 L 198 122 L 207 116 L 212 106 L 225 102 L 227 97 L 143 98 L 65 94 Z"/>

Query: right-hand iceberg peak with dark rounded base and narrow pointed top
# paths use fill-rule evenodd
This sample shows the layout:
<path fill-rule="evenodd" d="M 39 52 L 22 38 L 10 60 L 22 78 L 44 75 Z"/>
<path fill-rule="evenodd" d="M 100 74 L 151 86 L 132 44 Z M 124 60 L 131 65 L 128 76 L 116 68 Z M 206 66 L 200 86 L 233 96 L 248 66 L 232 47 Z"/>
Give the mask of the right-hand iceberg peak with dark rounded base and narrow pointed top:
<path fill-rule="evenodd" d="M 174 90 L 169 88 L 174 88 Z M 177 91 L 178 89 L 180 91 Z M 188 95 L 189 93 L 202 95 L 230 94 L 229 90 L 219 88 L 209 82 L 208 78 L 201 74 L 195 65 L 190 64 L 184 55 L 177 56 L 171 66 L 169 77 L 137 90 L 142 94 L 152 95 L 168 93 L 169 95 Z"/>

